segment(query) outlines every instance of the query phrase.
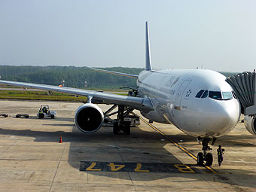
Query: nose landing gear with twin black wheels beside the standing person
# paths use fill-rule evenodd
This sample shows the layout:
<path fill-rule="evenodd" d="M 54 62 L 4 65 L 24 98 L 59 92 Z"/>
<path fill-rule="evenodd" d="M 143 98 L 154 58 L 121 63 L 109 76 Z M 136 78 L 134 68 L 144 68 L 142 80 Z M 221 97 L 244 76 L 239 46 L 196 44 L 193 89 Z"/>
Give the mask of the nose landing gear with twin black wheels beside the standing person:
<path fill-rule="evenodd" d="M 206 161 L 206 166 L 212 166 L 212 161 L 213 161 L 213 157 L 212 157 L 212 153 L 207 153 L 207 151 L 212 150 L 212 148 L 210 148 L 208 146 L 208 143 L 210 141 L 212 141 L 212 145 L 214 145 L 216 138 L 211 139 L 211 138 L 198 138 L 198 141 L 200 142 L 200 140 L 202 140 L 202 145 L 203 145 L 203 153 L 200 152 L 197 154 L 197 165 L 199 166 L 203 166 L 203 162 Z"/>

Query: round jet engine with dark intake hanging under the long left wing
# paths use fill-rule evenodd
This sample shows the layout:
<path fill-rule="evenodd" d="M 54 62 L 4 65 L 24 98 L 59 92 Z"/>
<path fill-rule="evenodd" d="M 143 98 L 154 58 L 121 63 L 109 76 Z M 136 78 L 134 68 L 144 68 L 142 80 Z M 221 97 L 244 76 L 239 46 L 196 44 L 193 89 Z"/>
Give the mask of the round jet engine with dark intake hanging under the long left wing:
<path fill-rule="evenodd" d="M 84 133 L 94 133 L 102 126 L 104 114 L 93 103 L 81 105 L 75 112 L 75 124 Z"/>

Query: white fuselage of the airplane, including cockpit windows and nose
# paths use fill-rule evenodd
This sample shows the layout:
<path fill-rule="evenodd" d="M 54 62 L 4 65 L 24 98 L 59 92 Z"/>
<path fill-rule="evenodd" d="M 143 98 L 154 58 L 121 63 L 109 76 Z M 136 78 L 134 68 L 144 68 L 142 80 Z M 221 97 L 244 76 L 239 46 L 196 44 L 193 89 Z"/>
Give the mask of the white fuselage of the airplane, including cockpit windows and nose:
<path fill-rule="evenodd" d="M 172 123 L 190 136 L 219 137 L 238 123 L 241 109 L 226 77 L 211 70 L 143 71 L 139 94 L 148 96 L 154 111 L 143 116 Z"/>

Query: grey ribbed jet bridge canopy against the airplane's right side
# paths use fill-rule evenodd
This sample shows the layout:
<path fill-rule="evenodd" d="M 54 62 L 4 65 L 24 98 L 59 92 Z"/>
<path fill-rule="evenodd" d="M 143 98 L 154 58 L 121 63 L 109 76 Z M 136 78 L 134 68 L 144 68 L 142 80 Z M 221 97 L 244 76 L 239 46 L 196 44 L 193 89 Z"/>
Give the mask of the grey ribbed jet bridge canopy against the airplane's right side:
<path fill-rule="evenodd" d="M 245 115 L 256 114 L 255 72 L 242 72 L 227 78 L 227 83 L 233 87 Z"/>

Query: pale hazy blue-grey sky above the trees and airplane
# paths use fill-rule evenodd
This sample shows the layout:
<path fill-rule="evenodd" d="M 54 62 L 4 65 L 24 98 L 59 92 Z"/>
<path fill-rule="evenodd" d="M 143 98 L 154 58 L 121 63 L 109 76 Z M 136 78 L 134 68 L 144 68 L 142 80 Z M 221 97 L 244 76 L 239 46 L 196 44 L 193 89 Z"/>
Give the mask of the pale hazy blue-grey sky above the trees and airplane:
<path fill-rule="evenodd" d="M 256 1 L 0 0 L 0 65 L 256 69 Z"/>

